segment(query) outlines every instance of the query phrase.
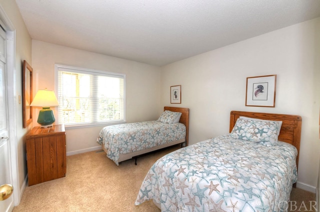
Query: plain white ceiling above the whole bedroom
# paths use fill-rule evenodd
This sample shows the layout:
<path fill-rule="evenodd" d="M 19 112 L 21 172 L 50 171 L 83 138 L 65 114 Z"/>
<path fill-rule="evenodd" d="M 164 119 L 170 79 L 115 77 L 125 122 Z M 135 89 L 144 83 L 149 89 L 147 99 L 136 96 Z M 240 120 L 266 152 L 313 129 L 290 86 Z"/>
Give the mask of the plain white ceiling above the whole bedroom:
<path fill-rule="evenodd" d="M 162 66 L 320 16 L 320 0 L 15 0 L 32 39 Z"/>

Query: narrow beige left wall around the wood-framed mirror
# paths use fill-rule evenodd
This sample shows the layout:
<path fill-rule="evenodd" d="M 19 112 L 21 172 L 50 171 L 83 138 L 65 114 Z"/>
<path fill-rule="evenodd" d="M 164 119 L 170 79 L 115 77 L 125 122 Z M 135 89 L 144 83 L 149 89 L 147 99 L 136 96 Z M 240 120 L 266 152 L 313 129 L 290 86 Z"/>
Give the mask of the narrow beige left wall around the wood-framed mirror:
<path fill-rule="evenodd" d="M 16 48 L 15 48 L 15 122 L 16 122 L 16 146 L 17 146 L 17 162 L 18 162 L 18 178 L 19 186 L 22 188 L 25 186 L 25 178 L 27 174 L 26 170 L 26 155 L 25 155 L 25 139 L 24 136 L 28 130 L 32 127 L 29 125 L 28 128 L 22 127 L 22 105 L 18 102 L 18 97 L 22 98 L 22 62 L 23 60 L 28 61 L 31 64 L 31 38 L 24 25 L 24 21 L 20 15 L 18 7 L 14 0 L 0 0 L 0 5 L 4 9 L 5 13 L 9 17 L 11 23 L 15 28 L 16 34 Z M 12 70 L 9 70 L 12 71 Z M 9 85 L 14 86 L 14 85 Z M 12 97 L 8 97 L 12 98 Z M 21 190 L 20 192 L 23 192 Z"/>

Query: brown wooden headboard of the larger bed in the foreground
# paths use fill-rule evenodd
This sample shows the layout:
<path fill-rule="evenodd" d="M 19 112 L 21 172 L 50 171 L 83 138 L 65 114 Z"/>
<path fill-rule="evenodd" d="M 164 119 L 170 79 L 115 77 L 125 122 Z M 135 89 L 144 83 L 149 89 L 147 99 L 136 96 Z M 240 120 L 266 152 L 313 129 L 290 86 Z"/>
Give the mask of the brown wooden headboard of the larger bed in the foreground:
<path fill-rule="evenodd" d="M 237 118 L 239 118 L 239 116 L 246 116 L 250 118 L 265 119 L 272 121 L 282 121 L 282 126 L 278 140 L 295 146 L 295 148 L 298 151 L 298 155 L 296 157 L 296 167 L 298 166 L 302 123 L 301 116 L 274 113 L 231 111 L 229 132 L 231 132 L 231 130 L 233 129 L 233 126 L 235 125 L 235 122 Z"/>

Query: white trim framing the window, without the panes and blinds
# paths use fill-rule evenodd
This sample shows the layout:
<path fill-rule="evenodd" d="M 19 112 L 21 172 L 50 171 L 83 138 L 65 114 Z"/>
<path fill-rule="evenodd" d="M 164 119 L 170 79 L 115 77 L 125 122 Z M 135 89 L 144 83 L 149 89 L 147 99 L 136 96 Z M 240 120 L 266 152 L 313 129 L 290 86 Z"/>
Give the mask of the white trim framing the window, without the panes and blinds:
<path fill-rule="evenodd" d="M 65 129 L 77 129 L 77 128 L 87 128 L 87 127 L 99 127 L 99 126 L 108 126 L 108 125 L 114 125 L 114 124 L 124 124 L 126 123 L 126 101 L 125 101 L 125 74 L 122 73 L 115 73 L 115 72 L 109 72 L 109 71 L 101 71 L 101 70 L 95 70 L 95 69 L 88 69 L 88 68 L 79 68 L 74 66 L 68 66 L 68 65 L 61 65 L 61 64 L 54 64 L 54 92 L 57 94 L 58 90 L 58 71 L 61 69 L 66 69 L 65 71 L 73 71 L 76 73 L 83 73 L 83 74 L 92 74 L 92 75 L 101 75 L 101 74 L 107 74 L 107 75 L 113 75 L 118 78 L 123 79 L 123 120 L 122 121 L 107 121 L 107 122 L 99 122 L 99 123 L 83 123 L 83 124 L 64 124 Z M 56 108 L 57 114 L 58 109 Z M 59 122 L 58 115 L 55 116 L 55 122 Z"/>

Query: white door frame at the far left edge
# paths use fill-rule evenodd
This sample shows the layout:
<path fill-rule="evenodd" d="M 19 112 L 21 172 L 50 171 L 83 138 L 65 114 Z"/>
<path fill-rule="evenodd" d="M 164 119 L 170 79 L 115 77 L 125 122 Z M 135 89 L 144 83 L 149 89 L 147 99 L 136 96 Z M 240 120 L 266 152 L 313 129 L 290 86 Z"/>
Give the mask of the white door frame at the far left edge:
<path fill-rule="evenodd" d="M 16 70 L 15 70 L 15 43 L 16 32 L 15 27 L 11 23 L 9 17 L 5 13 L 3 7 L 0 5 L 0 20 L 7 36 L 7 66 L 6 66 L 6 81 L 7 81 L 7 112 L 8 112 L 8 128 L 9 128 L 9 160 L 11 180 L 13 186 L 13 203 L 14 206 L 20 203 L 20 187 L 19 187 L 19 172 L 18 172 L 18 157 L 17 157 L 17 143 L 16 143 Z"/>

